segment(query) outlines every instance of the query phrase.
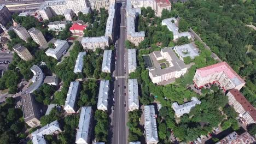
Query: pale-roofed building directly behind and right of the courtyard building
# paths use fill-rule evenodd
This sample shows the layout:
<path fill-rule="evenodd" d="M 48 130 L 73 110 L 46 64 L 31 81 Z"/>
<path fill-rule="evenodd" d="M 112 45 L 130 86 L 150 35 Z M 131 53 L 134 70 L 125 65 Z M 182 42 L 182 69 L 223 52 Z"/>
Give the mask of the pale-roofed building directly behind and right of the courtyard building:
<path fill-rule="evenodd" d="M 196 56 L 199 56 L 199 52 L 193 43 L 174 46 L 173 50 L 177 53 L 179 59 L 182 59 L 182 61 L 184 57 L 194 59 Z"/>

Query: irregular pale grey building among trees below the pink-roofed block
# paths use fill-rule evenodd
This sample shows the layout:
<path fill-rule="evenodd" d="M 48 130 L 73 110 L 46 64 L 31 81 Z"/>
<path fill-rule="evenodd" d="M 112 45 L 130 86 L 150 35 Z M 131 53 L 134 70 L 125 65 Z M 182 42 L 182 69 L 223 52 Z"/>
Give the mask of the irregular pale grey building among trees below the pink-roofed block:
<path fill-rule="evenodd" d="M 172 109 L 175 111 L 175 115 L 177 117 L 181 117 L 185 113 L 189 113 L 193 107 L 199 104 L 201 104 L 201 101 L 196 97 L 192 97 L 191 101 L 184 103 L 182 105 L 179 105 L 177 102 L 174 102 L 172 104 Z"/>

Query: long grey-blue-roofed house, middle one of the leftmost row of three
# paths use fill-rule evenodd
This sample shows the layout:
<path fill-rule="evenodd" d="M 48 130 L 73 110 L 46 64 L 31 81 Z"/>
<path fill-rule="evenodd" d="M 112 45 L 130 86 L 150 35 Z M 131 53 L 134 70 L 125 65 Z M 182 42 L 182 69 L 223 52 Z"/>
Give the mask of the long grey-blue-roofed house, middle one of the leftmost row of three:
<path fill-rule="evenodd" d="M 77 95 L 79 89 L 79 82 L 72 81 L 68 88 L 67 98 L 64 105 L 64 110 L 67 113 L 75 113 L 75 101 L 77 100 Z"/>

